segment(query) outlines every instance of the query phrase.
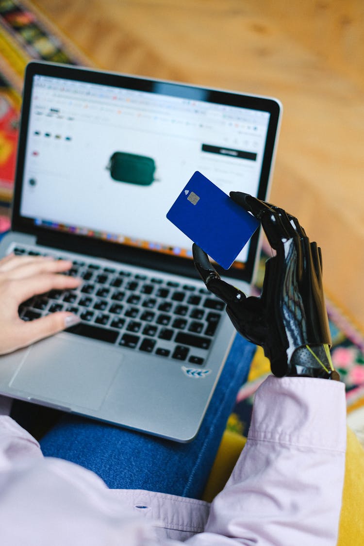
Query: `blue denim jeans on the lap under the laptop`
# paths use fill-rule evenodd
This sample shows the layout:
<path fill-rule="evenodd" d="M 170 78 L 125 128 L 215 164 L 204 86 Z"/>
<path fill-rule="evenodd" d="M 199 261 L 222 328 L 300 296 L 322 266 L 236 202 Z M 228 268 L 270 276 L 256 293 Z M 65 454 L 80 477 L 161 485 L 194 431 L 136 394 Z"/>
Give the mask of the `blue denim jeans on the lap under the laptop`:
<path fill-rule="evenodd" d="M 45 456 L 75 462 L 112 489 L 146 489 L 201 498 L 255 346 L 236 335 L 202 426 L 187 444 L 64 414 L 41 439 Z"/>

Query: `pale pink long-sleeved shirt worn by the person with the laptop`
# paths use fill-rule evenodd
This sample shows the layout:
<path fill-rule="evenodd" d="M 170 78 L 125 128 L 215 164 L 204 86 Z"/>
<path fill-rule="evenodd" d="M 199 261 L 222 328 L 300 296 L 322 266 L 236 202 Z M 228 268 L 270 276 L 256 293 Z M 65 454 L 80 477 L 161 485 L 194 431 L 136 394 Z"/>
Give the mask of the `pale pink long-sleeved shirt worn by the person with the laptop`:
<path fill-rule="evenodd" d="M 111 490 L 92 472 L 44 458 L 0 417 L 4 546 L 334 546 L 346 448 L 344 384 L 270 376 L 255 395 L 248 441 L 211 505 Z"/>

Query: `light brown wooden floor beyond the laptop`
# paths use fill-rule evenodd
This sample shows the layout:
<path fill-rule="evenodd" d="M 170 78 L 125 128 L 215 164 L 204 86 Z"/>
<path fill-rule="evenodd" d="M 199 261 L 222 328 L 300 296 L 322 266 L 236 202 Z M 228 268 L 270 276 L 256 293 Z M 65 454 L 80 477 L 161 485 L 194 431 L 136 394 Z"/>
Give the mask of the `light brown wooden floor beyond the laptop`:
<path fill-rule="evenodd" d="M 323 248 L 327 295 L 364 331 L 364 2 L 37 0 L 100 68 L 284 106 L 271 201 Z"/>

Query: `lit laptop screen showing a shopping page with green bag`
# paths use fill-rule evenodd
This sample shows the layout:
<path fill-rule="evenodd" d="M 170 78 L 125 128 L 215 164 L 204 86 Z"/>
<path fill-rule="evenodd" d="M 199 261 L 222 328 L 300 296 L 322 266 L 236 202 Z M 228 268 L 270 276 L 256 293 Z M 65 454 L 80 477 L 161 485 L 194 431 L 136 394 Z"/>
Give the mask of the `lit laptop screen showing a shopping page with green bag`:
<path fill-rule="evenodd" d="M 252 108 L 225 92 L 216 101 L 204 88 L 69 71 L 35 71 L 28 91 L 19 209 L 34 227 L 190 258 L 192 241 L 165 215 L 196 170 L 225 193 L 261 194 L 273 101 Z"/>

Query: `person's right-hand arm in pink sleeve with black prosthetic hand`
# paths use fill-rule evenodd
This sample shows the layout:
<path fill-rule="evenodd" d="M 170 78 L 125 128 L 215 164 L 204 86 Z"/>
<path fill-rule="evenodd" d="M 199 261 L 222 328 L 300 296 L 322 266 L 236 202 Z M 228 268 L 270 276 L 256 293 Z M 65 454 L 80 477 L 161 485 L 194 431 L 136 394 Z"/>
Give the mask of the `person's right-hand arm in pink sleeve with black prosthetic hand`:
<path fill-rule="evenodd" d="M 278 377 L 268 378 L 255 395 L 246 447 L 212 503 L 206 526 L 212 535 L 191 544 L 220 544 L 220 534 L 234 544 L 334 546 L 346 408 L 344 384 L 329 352 L 321 251 L 284 210 L 240 192 L 230 196 L 260 219 L 276 251 L 266 263 L 262 293 L 246 298 L 194 245 L 196 269 L 226 303 L 237 331 L 264 348 Z"/>

